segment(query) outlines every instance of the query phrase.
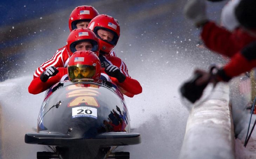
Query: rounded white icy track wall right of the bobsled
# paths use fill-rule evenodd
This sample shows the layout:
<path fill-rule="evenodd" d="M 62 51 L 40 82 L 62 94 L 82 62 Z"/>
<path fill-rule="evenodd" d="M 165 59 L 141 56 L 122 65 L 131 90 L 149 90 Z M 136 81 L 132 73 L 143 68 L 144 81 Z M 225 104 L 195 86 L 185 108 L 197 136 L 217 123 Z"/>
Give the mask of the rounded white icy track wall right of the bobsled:
<path fill-rule="evenodd" d="M 213 95 L 194 105 L 187 121 L 180 159 L 234 159 L 234 128 L 229 86 L 219 83 Z"/>

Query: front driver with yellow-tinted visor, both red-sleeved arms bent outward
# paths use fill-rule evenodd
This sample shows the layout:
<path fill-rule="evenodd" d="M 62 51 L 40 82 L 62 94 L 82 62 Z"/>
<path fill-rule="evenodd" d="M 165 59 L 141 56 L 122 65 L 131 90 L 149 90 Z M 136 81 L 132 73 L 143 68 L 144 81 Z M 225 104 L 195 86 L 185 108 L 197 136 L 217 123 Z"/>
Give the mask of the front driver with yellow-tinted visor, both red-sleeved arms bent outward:
<path fill-rule="evenodd" d="M 108 68 L 112 69 L 112 67 L 107 67 L 105 72 L 114 74 L 112 77 L 108 77 L 108 81 L 120 81 L 120 78 L 123 78 L 124 75 L 119 69 L 114 68 L 113 71 L 109 71 Z M 105 74 L 101 72 L 100 60 L 94 52 L 76 51 L 72 56 L 70 56 L 67 68 L 60 67 L 56 69 L 53 66 L 47 68 L 40 77 L 36 77 L 32 80 L 28 87 L 28 92 L 32 94 L 41 93 L 52 85 L 60 81 L 64 81 L 67 77 L 71 82 L 83 82 L 88 80 L 97 81 L 102 74 Z M 106 77 L 106 74 L 104 76 Z M 126 96 L 134 96 L 134 86 L 130 85 L 130 81 L 133 79 L 130 77 L 124 78 L 126 80 L 120 81 L 120 83 L 114 83 L 119 86 L 122 93 Z M 136 84 L 138 85 L 139 82 Z"/>

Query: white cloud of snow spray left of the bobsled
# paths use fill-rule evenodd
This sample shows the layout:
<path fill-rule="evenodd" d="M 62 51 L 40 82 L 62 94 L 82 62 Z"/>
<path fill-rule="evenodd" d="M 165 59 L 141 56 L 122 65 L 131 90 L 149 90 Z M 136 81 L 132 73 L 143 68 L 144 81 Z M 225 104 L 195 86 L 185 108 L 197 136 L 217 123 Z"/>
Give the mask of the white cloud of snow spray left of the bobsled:
<path fill-rule="evenodd" d="M 41 145 L 25 144 L 26 132 L 36 126 L 42 95 L 27 91 L 32 76 L 9 79 L 0 83 L 1 158 L 36 158 Z M 37 100 L 38 99 L 38 100 Z"/>

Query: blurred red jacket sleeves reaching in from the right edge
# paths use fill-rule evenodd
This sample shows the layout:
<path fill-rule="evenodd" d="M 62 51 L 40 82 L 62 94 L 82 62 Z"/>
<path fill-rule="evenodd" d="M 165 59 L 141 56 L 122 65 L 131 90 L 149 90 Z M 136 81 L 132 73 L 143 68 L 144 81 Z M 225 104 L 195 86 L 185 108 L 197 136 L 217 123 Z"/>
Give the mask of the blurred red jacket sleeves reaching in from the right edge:
<path fill-rule="evenodd" d="M 229 32 L 225 28 L 218 27 L 214 22 L 208 22 L 203 26 L 201 38 L 204 44 L 210 50 L 231 58 L 221 73 L 224 81 L 253 68 L 254 60 L 249 58 L 248 61 L 246 55 L 244 56 L 242 53 L 242 49 L 256 40 L 255 35 L 255 32 L 248 32 L 242 28 Z"/>

